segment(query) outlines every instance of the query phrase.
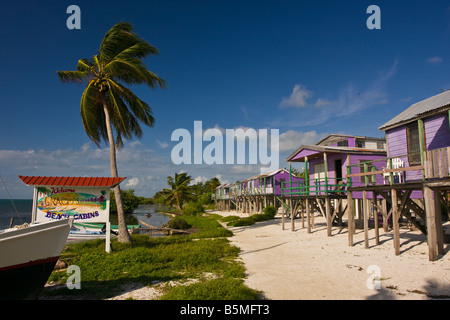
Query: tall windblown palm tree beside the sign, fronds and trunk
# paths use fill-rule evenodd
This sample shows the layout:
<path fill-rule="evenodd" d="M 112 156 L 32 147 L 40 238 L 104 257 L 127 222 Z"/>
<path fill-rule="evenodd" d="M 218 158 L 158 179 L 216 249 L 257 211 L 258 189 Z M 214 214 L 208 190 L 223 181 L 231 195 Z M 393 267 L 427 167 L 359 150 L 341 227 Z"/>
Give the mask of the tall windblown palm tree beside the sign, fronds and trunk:
<path fill-rule="evenodd" d="M 151 108 L 121 82 L 146 84 L 150 88 L 166 85 L 142 62 L 146 56 L 157 54 L 158 49 L 132 31 L 130 23 L 119 22 L 106 32 L 92 59 L 78 60 L 76 71 L 57 71 L 62 82 L 87 84 L 81 96 L 81 119 L 87 135 L 98 147 L 102 140 L 109 144 L 112 177 L 118 177 L 116 147 L 123 146 L 122 139 L 140 138 L 139 122 L 149 127 L 154 122 Z M 130 242 L 119 186 L 114 188 L 114 194 L 119 242 Z"/>

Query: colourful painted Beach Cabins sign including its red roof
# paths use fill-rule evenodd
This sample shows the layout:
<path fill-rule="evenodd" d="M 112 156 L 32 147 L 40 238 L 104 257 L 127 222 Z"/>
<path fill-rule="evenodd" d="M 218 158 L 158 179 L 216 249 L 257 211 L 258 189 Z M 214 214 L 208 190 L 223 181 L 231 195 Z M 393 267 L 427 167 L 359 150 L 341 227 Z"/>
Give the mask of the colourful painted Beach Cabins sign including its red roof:
<path fill-rule="evenodd" d="M 74 222 L 109 222 L 110 189 L 125 178 L 19 176 L 34 187 L 32 222 L 73 217 Z"/>

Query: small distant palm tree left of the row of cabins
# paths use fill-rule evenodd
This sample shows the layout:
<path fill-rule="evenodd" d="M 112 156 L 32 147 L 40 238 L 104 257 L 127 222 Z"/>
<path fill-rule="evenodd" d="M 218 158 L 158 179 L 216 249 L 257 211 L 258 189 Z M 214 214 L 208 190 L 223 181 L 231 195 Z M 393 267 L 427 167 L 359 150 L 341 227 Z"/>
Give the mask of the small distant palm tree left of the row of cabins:
<path fill-rule="evenodd" d="M 176 206 L 180 212 L 183 210 L 183 203 L 194 199 L 192 188 L 189 183 L 192 181 L 191 177 L 186 172 L 175 173 L 175 177 L 168 176 L 167 184 L 169 188 L 164 188 L 158 193 L 162 201 L 169 206 Z"/>

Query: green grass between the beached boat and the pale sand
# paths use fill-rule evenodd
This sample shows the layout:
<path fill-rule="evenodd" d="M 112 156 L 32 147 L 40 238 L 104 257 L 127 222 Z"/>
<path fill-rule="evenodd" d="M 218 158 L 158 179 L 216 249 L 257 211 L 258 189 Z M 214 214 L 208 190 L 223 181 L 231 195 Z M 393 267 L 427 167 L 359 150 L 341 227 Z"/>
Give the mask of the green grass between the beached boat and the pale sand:
<path fill-rule="evenodd" d="M 196 229 L 189 236 L 152 238 L 132 235 L 132 243 L 113 240 L 112 252 L 105 253 L 104 240 L 70 244 L 61 260 L 77 265 L 81 271 L 81 290 L 45 288 L 44 296 L 105 299 L 120 293 L 127 282 L 151 285 L 153 281 L 199 279 L 191 285 L 167 288 L 163 299 L 257 299 L 259 292 L 243 283 L 245 268 L 238 259 L 239 248 L 226 237 L 232 232 L 223 228 L 216 216 L 186 216 Z M 205 273 L 214 279 L 205 278 Z M 65 284 L 65 270 L 55 270 L 49 282 Z"/>

